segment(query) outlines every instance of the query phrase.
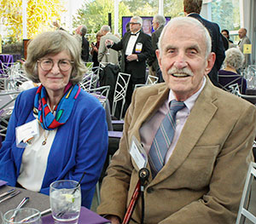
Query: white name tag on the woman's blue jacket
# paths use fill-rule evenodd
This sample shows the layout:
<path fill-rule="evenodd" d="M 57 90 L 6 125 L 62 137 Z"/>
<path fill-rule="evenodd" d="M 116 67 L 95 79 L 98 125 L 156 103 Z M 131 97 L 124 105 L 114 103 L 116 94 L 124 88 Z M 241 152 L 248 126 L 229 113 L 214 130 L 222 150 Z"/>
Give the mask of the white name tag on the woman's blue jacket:
<path fill-rule="evenodd" d="M 38 120 L 32 120 L 19 127 L 16 127 L 16 146 L 26 147 L 28 141 L 39 135 Z"/>

